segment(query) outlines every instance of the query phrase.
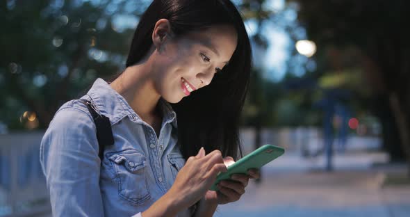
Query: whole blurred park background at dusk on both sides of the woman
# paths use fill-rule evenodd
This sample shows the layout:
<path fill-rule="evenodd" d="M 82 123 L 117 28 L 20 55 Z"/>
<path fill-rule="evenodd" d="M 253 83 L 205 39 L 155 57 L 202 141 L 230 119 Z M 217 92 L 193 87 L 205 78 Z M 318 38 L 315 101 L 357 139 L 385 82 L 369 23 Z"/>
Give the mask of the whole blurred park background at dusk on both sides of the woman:
<path fill-rule="evenodd" d="M 245 153 L 286 154 L 215 216 L 409 216 L 410 2 L 233 0 L 252 40 Z M 0 216 L 51 216 L 54 113 L 124 70 L 151 1 L 0 3 Z"/>

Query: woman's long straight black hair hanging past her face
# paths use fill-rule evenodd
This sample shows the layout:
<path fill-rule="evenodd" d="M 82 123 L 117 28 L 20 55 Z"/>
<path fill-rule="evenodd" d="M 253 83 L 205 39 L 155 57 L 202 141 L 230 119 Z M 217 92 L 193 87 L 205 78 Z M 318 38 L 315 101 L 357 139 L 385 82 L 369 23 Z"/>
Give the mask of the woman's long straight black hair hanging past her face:
<path fill-rule="evenodd" d="M 185 159 L 220 150 L 223 156 L 238 159 L 242 155 L 239 120 L 249 83 L 252 51 L 243 19 L 229 0 L 154 0 L 133 35 L 126 67 L 135 65 L 152 46 L 152 31 L 158 19 L 170 22 L 177 37 L 218 24 L 236 29 L 238 45 L 222 72 L 212 82 L 195 90 L 189 97 L 172 104 L 177 113 L 178 143 Z"/>

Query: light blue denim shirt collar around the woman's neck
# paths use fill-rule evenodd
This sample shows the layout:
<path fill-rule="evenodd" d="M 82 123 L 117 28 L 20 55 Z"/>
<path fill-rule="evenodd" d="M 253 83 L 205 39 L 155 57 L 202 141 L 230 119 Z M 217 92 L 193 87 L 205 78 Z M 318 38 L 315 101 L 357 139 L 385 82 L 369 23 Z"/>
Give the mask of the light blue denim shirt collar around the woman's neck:
<path fill-rule="evenodd" d="M 131 109 L 124 97 L 111 88 L 103 79 L 98 78 L 92 84 L 87 95 L 90 96 L 99 113 L 110 118 L 111 124 L 117 123 L 126 116 L 131 118 L 133 122 L 143 122 L 140 116 Z M 177 127 L 177 114 L 169 102 L 161 97 L 158 104 L 163 112 L 163 121 L 170 122 L 174 127 Z"/>

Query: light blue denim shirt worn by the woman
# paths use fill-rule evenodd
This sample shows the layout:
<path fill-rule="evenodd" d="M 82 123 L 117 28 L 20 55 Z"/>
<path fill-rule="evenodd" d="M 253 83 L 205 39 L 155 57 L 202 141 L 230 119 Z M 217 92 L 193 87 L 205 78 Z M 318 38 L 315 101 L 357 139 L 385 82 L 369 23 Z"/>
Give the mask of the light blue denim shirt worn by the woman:
<path fill-rule="evenodd" d="M 40 146 L 53 216 L 140 216 L 171 188 L 185 163 L 177 145 L 176 113 L 159 100 L 163 122 L 157 138 L 103 79 L 81 99 L 110 118 L 115 143 L 105 148 L 101 163 L 87 107 L 76 99 L 58 109 Z M 190 216 L 190 209 L 178 216 Z"/>

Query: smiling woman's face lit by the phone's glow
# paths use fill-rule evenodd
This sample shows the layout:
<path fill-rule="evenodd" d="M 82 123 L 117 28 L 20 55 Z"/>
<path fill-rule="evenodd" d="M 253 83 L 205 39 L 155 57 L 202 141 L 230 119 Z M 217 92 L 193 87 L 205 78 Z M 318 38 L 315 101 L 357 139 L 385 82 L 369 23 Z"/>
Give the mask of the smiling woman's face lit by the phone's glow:
<path fill-rule="evenodd" d="M 180 38 L 168 39 L 156 52 L 154 86 L 167 100 L 177 103 L 190 92 L 211 83 L 236 49 L 233 26 L 213 26 Z"/>

